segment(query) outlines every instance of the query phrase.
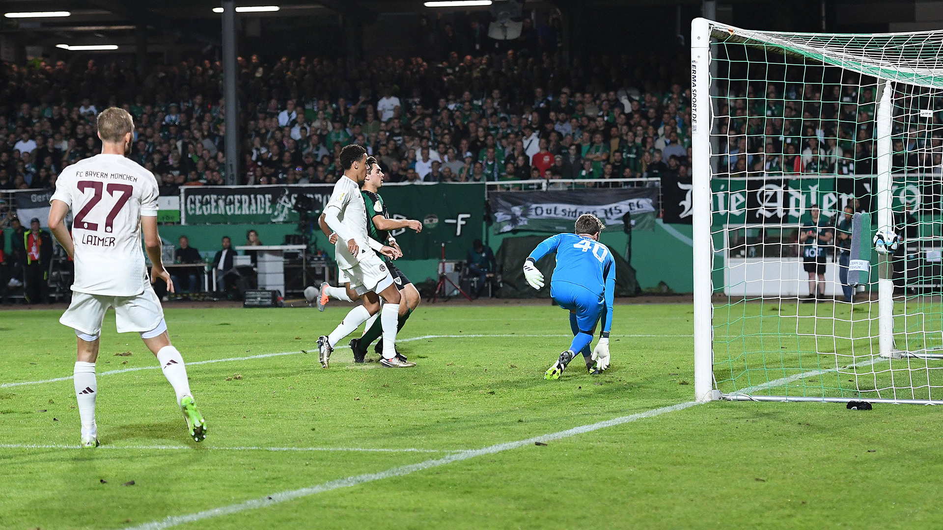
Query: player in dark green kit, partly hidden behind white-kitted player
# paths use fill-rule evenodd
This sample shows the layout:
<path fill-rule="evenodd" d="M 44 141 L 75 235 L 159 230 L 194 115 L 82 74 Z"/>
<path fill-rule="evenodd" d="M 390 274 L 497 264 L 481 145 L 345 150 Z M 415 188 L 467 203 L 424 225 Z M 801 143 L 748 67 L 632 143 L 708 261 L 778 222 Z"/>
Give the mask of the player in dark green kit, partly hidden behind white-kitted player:
<path fill-rule="evenodd" d="M 377 191 L 383 186 L 384 179 L 383 170 L 380 169 L 379 163 L 374 157 L 367 157 L 367 178 L 364 180 L 363 185 L 361 186 L 360 193 L 363 195 L 364 203 L 367 207 L 367 231 L 372 240 L 377 240 L 380 242 L 385 242 L 389 246 L 395 248 L 396 250 L 402 253 L 399 244 L 396 243 L 396 240 L 389 235 L 389 232 L 392 230 L 398 230 L 403 228 L 411 228 L 416 232 L 422 232 L 422 223 L 410 219 L 391 219 L 389 215 L 389 210 L 386 205 L 383 204 L 383 198 L 380 197 Z M 321 221 L 321 229 L 324 234 L 328 237 L 331 242 L 335 241 L 337 238 L 336 234 L 333 234 L 330 228 L 324 224 L 323 220 Z M 382 257 L 389 268 L 389 273 L 393 276 L 393 284 L 397 289 L 400 290 L 400 294 L 405 298 L 405 304 L 400 304 L 400 317 L 399 317 L 399 328 L 403 328 L 406 320 L 409 318 L 409 315 L 412 314 L 412 311 L 419 306 L 420 294 L 419 290 L 416 289 L 416 286 L 413 285 L 409 278 L 400 271 L 392 261 L 387 257 Z M 339 283 L 345 283 L 346 278 L 339 278 Z M 321 292 L 319 293 L 318 307 L 323 308 L 332 296 L 331 292 L 335 290 L 341 290 L 341 288 L 331 288 L 326 282 L 321 286 Z M 341 300 L 356 302 L 356 293 L 346 289 L 346 297 L 338 297 Z M 353 295 L 353 296 L 352 296 Z M 360 339 L 352 339 L 350 341 L 351 350 L 354 351 L 354 362 L 364 362 L 364 359 L 367 355 L 367 349 L 370 347 L 373 340 L 377 340 L 381 333 L 382 328 L 379 321 L 373 317 L 371 320 L 368 320 L 365 326 L 365 331 L 363 336 Z M 375 349 L 379 352 L 382 351 L 382 339 L 377 341 Z M 405 356 L 397 353 L 397 356 L 400 356 L 405 360 Z M 411 364 L 411 363 L 410 363 Z"/>

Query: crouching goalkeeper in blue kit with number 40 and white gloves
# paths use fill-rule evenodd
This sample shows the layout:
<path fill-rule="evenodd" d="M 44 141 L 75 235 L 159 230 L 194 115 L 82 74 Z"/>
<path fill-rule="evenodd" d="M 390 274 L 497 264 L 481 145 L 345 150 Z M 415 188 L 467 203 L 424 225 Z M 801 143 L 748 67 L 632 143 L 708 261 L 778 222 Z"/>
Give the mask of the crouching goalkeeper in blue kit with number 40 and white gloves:
<path fill-rule="evenodd" d="M 609 249 L 599 242 L 605 228 L 595 215 L 583 214 L 576 220 L 575 233 L 557 234 L 537 245 L 524 261 L 524 278 L 534 289 L 543 287 L 543 274 L 536 262 L 556 253 L 556 267 L 550 282 L 550 295 L 564 309 L 570 309 L 573 341 L 560 354 L 544 379 L 557 379 L 576 353 L 583 354 L 589 373 L 601 373 L 609 367 L 609 331 L 612 328 L 612 300 L 616 289 L 616 262 Z M 589 344 L 596 323 L 603 321 L 603 332 L 596 348 Z"/>

